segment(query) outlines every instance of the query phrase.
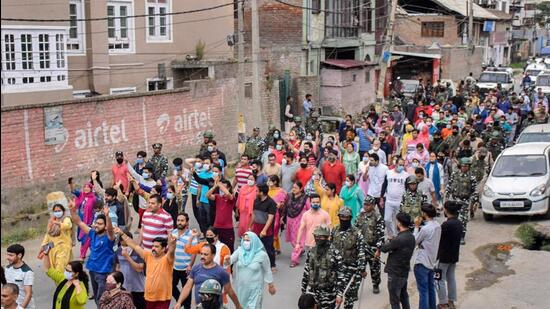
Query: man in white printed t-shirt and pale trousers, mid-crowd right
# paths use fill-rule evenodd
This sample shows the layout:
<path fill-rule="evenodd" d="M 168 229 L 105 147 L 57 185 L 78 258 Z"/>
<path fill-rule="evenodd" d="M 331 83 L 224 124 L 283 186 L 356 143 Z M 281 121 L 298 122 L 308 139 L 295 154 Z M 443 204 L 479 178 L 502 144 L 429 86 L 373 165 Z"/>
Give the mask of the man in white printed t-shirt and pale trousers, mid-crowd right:
<path fill-rule="evenodd" d="M 386 224 L 386 237 L 392 239 L 397 235 L 395 216 L 399 212 L 401 199 L 405 194 L 405 180 L 409 173 L 405 172 L 405 160 L 399 159 L 395 169 L 386 172 L 386 178 L 382 185 L 380 196 L 384 198 L 384 223 Z M 381 201 L 384 202 L 384 201 Z"/>

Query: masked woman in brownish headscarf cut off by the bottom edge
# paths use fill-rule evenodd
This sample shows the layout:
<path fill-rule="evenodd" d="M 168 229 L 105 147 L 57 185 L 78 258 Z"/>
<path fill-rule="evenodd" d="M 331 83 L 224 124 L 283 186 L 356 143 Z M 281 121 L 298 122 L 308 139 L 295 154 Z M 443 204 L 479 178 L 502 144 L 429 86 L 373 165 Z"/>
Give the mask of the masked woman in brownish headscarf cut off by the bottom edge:
<path fill-rule="evenodd" d="M 99 299 L 99 309 L 134 309 L 132 294 L 126 292 L 122 285 L 124 275 L 114 271 L 107 276 L 105 292 Z"/>

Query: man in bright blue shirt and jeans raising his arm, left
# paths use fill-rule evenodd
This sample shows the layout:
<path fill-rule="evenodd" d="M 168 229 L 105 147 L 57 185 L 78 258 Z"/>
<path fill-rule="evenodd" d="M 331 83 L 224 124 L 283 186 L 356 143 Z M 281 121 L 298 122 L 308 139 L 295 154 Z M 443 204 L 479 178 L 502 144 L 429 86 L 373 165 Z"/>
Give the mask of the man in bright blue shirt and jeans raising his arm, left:
<path fill-rule="evenodd" d="M 88 262 L 86 262 L 86 268 L 90 272 L 94 300 L 98 305 L 99 299 L 105 291 L 107 276 L 113 271 L 115 258 L 115 252 L 113 251 L 115 233 L 109 216 L 109 207 L 103 207 L 103 213 L 97 216 L 93 224 L 94 228 L 89 227 L 80 220 L 74 201 L 69 203 L 69 209 L 71 210 L 73 222 L 90 237 L 90 256 Z"/>

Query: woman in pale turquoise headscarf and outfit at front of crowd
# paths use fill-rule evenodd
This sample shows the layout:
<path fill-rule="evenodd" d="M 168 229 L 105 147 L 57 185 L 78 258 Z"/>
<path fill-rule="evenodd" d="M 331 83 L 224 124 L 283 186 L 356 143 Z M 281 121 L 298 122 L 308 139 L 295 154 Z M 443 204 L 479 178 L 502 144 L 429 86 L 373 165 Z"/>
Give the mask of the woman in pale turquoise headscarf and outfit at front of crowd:
<path fill-rule="evenodd" d="M 241 239 L 241 246 L 226 258 L 226 264 L 235 265 L 233 270 L 237 298 L 246 309 L 261 309 L 264 284 L 274 295 L 275 285 L 269 257 L 260 238 L 253 232 L 246 232 Z"/>

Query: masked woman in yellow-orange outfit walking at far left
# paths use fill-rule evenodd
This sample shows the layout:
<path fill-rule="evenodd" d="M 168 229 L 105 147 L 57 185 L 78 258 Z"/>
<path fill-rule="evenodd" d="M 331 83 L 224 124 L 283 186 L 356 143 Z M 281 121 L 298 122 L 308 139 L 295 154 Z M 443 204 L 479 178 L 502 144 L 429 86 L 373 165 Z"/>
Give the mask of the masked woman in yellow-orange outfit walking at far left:
<path fill-rule="evenodd" d="M 46 253 L 44 249 L 49 250 L 50 264 L 53 268 L 63 271 L 65 265 L 73 259 L 71 239 L 73 224 L 63 205 L 55 204 L 52 211 L 53 216 L 48 221 L 48 231 L 40 245 L 40 256 Z"/>

